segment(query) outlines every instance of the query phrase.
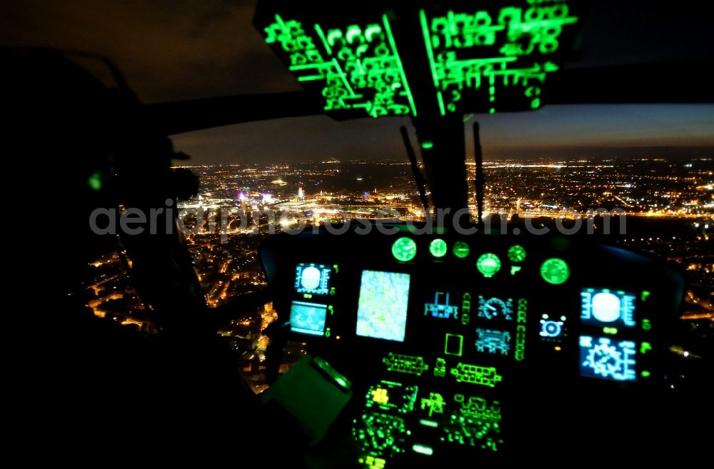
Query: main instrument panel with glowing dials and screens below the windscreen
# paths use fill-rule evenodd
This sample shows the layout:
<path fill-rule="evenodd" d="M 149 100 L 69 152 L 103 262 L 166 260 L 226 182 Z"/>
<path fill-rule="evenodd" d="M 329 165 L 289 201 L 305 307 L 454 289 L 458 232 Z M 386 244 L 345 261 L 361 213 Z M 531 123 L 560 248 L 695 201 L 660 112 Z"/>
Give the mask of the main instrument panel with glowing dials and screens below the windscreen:
<path fill-rule="evenodd" d="M 639 397 L 661 385 L 678 273 L 587 236 L 391 228 L 284 234 L 261 251 L 290 335 L 353 383 L 336 432 L 361 465 L 521 458 L 635 431 Z"/>

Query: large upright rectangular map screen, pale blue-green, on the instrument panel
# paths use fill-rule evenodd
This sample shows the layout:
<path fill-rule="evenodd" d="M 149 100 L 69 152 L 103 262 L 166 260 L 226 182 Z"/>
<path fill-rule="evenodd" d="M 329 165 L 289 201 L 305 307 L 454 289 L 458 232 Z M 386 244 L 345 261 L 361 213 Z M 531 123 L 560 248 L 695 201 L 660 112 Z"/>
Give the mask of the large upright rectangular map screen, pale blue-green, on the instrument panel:
<path fill-rule="evenodd" d="M 363 271 L 357 308 L 357 335 L 404 341 L 409 303 L 408 273 Z"/>

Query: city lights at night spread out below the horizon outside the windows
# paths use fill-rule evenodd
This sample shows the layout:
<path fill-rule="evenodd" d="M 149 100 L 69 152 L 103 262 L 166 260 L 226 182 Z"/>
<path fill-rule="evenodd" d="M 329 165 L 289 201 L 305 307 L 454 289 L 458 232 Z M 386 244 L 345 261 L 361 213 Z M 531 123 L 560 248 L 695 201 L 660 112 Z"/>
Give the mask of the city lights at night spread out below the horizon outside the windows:
<path fill-rule="evenodd" d="M 180 226 L 210 308 L 265 291 L 258 251 L 266 236 L 296 227 L 353 221 L 424 220 L 411 168 L 405 161 L 292 161 L 263 165 L 188 165 L 201 180 L 198 194 L 178 201 Z M 473 163 L 468 164 L 473 174 Z M 708 318 L 714 266 L 708 243 L 714 230 L 714 165 L 710 158 L 557 158 L 489 161 L 485 165 L 486 215 L 539 223 L 588 216 L 592 208 L 621 208 L 625 233 L 613 222 L 613 242 L 662 258 L 681 268 L 690 282 L 683 319 Z M 514 184 L 513 181 L 520 181 Z M 469 181 L 473 187 L 473 176 Z M 472 221 L 476 207 L 469 205 Z M 231 216 L 221 224 L 221 213 Z M 198 216 L 200 214 L 200 216 Z M 273 217 L 271 218 L 271 214 Z M 277 215 L 276 215 L 277 214 Z M 241 220 L 246 218 L 246 220 Z M 243 223 L 241 223 L 243 221 Z M 492 222 L 500 226 L 501 221 Z M 218 226 L 218 228 L 216 228 Z M 216 231 L 218 230 L 218 231 Z M 508 233 L 512 228 L 506 228 Z M 309 231 L 309 230 L 308 230 Z M 96 260 L 88 288 L 94 315 L 154 333 L 154 325 L 124 271 L 121 256 Z M 266 389 L 261 363 L 263 330 L 276 319 L 271 303 L 221 336 L 243 357 L 242 373 L 257 392 Z M 305 352 L 291 342 L 290 363 Z"/>

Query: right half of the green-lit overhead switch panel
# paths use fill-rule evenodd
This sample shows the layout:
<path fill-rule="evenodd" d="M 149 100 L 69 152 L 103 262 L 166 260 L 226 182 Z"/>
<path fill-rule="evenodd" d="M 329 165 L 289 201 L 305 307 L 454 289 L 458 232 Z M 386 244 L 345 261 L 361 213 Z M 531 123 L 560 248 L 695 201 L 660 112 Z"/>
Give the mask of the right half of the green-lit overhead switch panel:
<path fill-rule="evenodd" d="M 419 12 L 442 115 L 460 108 L 494 113 L 502 96 L 524 109 L 540 107 L 545 79 L 559 69 L 553 54 L 560 48 L 560 34 L 578 17 L 565 1 L 529 3 L 438 15 Z M 468 104 L 460 106 L 465 100 Z"/>

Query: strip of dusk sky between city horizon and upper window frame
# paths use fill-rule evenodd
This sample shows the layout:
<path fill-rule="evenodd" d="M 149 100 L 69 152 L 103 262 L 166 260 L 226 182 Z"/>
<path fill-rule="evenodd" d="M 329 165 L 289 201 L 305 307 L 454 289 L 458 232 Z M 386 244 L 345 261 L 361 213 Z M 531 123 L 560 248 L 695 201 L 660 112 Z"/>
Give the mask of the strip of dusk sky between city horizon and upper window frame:
<path fill-rule="evenodd" d="M 481 126 L 486 160 L 714 156 L 714 105 L 710 104 L 559 105 L 481 114 L 464 124 L 467 159 L 473 158 L 468 129 L 474 121 Z M 335 121 L 327 116 L 241 123 L 182 133 L 172 141 L 196 164 L 328 158 L 406 161 L 400 126 L 407 126 L 416 141 L 408 118 Z M 268 140 L 266 133 L 271 133 Z"/>

